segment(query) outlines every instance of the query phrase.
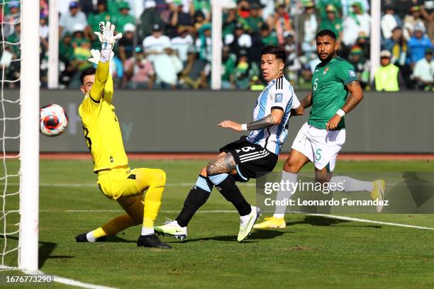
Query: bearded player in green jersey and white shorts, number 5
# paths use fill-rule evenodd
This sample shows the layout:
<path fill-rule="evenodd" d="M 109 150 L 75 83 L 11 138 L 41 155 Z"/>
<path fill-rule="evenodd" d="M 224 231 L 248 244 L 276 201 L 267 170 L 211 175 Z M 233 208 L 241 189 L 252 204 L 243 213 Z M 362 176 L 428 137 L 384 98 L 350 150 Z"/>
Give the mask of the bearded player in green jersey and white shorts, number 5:
<path fill-rule="evenodd" d="M 363 98 L 362 87 L 354 67 L 338 57 L 338 41 L 331 30 L 321 30 L 316 35 L 316 50 L 321 63 L 315 67 L 312 77 L 312 90 L 301 101 L 301 106 L 312 106 L 307 123 L 299 130 L 292 144 L 289 157 L 283 166 L 282 181 L 294 186 L 281 188 L 277 200 L 289 200 L 295 193 L 297 174 L 308 162 L 315 165 L 316 183 L 340 184 L 337 191 L 366 191 L 377 200 L 377 212 L 383 208 L 383 180 L 358 181 L 348 176 L 332 177 L 338 152 L 345 143 L 345 120 Z M 285 202 L 279 202 L 273 217 L 265 218 L 254 226 L 256 229 L 283 228 L 286 226 L 284 213 Z"/>

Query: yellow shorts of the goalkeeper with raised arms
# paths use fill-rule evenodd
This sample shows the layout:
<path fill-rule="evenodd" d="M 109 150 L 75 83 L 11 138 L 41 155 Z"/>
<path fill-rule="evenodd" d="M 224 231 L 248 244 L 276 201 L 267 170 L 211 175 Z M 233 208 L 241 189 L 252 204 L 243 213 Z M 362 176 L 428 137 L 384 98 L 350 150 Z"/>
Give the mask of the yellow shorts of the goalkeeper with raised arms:
<path fill-rule="evenodd" d="M 117 200 L 121 196 L 138 196 L 152 184 L 165 185 L 160 169 L 130 169 L 128 166 L 98 172 L 98 186 L 104 196 Z"/>

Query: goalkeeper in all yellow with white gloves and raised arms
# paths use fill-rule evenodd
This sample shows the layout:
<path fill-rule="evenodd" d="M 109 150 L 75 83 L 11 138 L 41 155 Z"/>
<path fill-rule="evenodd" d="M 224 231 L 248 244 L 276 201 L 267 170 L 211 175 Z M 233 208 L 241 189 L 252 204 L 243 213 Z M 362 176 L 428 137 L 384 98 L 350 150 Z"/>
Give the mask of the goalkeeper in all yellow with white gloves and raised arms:
<path fill-rule="evenodd" d="M 109 75 L 109 61 L 113 45 L 122 35 L 114 34 L 115 26 L 99 23 L 101 32 L 95 32 L 101 41 L 101 53 L 92 51 L 89 61 L 97 68 L 85 69 L 80 75 L 80 90 L 85 95 L 79 106 L 84 138 L 94 159 L 94 172 L 104 196 L 116 200 L 126 215 L 115 217 L 91 232 L 79 234 L 77 242 L 100 242 L 128 227 L 142 224 L 137 245 L 170 249 L 154 233 L 154 221 L 160 210 L 165 189 L 166 174 L 161 169 L 133 169 L 123 148 L 121 128 L 111 104 L 113 81 Z M 99 59 L 98 59 L 99 58 Z M 146 193 L 145 193 L 146 191 Z"/>

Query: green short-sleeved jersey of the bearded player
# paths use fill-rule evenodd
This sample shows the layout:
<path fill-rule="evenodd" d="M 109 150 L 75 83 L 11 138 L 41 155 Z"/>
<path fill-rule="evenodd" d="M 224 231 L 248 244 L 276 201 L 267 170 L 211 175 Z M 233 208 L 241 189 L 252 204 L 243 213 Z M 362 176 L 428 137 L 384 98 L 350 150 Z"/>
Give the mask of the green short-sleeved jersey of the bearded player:
<path fill-rule="evenodd" d="M 318 64 L 312 76 L 312 111 L 308 124 L 325 130 L 328 120 L 347 101 L 348 91 L 345 86 L 354 80 L 357 80 L 354 67 L 342 57 L 335 57 L 326 64 Z M 343 128 L 344 118 L 336 130 Z"/>

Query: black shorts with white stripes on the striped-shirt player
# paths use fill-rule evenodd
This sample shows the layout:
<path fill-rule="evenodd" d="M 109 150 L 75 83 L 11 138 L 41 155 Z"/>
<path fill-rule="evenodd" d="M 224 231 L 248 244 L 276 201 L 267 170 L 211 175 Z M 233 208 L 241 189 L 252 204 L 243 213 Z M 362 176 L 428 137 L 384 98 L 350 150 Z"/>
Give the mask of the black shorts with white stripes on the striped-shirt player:
<path fill-rule="evenodd" d="M 277 154 L 269 152 L 260 145 L 248 142 L 245 136 L 225 145 L 220 152 L 230 152 L 235 159 L 238 173 L 235 176 L 236 181 L 245 182 L 251 178 L 257 179 L 268 174 L 277 164 Z"/>

